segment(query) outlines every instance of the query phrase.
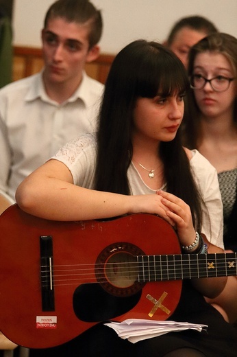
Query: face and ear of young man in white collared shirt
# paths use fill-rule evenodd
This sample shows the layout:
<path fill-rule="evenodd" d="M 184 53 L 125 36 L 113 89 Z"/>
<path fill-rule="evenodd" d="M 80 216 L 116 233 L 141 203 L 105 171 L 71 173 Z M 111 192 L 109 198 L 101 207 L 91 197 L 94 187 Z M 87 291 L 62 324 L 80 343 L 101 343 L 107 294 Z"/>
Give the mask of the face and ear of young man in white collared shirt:
<path fill-rule="evenodd" d="M 42 53 L 47 82 L 79 85 L 86 62 L 99 55 L 99 47 L 89 48 L 90 27 L 57 17 L 42 30 Z"/>

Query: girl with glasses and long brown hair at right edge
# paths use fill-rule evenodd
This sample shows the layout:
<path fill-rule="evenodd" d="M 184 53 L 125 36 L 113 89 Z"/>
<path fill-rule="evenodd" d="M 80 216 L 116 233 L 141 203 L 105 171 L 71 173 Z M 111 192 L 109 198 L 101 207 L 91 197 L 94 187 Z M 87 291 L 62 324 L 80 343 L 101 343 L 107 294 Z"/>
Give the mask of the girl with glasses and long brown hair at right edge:
<path fill-rule="evenodd" d="M 237 252 L 237 39 L 216 33 L 192 47 L 184 115 L 184 145 L 197 148 L 216 168 L 224 216 L 225 249 Z M 237 279 L 210 301 L 229 322 L 237 320 Z"/>

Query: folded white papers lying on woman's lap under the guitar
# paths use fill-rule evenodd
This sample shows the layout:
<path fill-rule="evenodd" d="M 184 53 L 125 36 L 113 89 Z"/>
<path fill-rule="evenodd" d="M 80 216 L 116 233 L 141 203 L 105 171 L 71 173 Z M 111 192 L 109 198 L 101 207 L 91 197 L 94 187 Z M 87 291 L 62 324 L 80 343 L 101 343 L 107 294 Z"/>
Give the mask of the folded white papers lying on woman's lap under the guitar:
<path fill-rule="evenodd" d="M 208 325 L 201 325 L 188 322 L 176 321 L 153 321 L 142 319 L 127 319 L 121 323 L 110 322 L 104 325 L 111 327 L 119 337 L 132 343 L 145 340 L 147 338 L 161 336 L 168 332 L 179 332 L 183 330 L 207 330 Z"/>

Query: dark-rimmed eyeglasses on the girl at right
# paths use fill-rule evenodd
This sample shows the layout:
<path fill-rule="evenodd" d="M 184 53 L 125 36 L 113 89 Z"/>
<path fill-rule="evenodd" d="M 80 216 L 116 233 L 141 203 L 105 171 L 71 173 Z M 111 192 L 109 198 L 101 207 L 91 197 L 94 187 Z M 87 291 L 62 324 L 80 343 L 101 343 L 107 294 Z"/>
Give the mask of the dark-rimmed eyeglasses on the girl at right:
<path fill-rule="evenodd" d="M 225 92 L 229 89 L 230 82 L 235 80 L 234 78 L 227 78 L 223 76 L 216 76 L 210 80 L 201 76 L 201 74 L 192 74 L 190 77 L 190 86 L 192 89 L 203 89 L 205 84 L 210 83 L 212 89 L 216 92 Z"/>

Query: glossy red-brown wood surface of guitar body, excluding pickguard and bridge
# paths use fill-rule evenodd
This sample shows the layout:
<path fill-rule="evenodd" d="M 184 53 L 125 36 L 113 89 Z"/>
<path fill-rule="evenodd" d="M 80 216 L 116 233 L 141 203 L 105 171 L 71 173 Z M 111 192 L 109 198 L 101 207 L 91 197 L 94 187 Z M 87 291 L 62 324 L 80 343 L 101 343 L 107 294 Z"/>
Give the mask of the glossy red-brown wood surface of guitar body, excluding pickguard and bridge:
<path fill-rule="evenodd" d="M 92 264 L 93 268 L 101 251 L 116 242 L 136 244 L 145 254 L 179 253 L 177 237 L 169 224 L 146 214 L 105 222 L 55 222 L 25 214 L 13 205 L 0 216 L 0 229 L 0 330 L 18 345 L 34 348 L 60 345 L 98 322 L 81 321 L 73 310 L 73 294 L 77 286 L 86 284 L 85 277 L 73 284 L 68 278 L 62 286 L 55 281 L 55 311 L 42 311 L 40 235 L 53 237 L 55 275 L 57 266 Z M 88 282 L 97 283 L 94 273 Z M 166 306 L 173 312 L 181 287 L 182 281 L 146 284 L 136 306 L 113 320 L 149 319 L 153 303 L 147 294 L 159 299 L 164 291 L 168 292 Z M 92 300 L 97 300 L 96 294 Z M 36 328 L 36 316 L 57 316 L 56 328 Z M 153 315 L 153 319 L 166 318 L 166 312 L 160 309 Z"/>

